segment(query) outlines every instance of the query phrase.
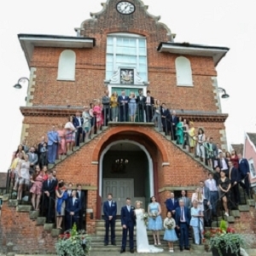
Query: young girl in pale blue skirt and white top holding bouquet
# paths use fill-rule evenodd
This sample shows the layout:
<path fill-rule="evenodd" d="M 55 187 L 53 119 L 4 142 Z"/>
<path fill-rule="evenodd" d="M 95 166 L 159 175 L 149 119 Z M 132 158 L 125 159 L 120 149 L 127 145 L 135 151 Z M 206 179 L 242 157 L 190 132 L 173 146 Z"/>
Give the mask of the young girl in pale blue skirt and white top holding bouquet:
<path fill-rule="evenodd" d="M 175 219 L 172 218 L 172 212 L 167 212 L 166 217 L 167 218 L 164 220 L 164 228 L 166 229 L 164 240 L 168 241 L 169 252 L 173 253 L 173 241 L 177 241 L 175 232 L 176 222 Z"/>

